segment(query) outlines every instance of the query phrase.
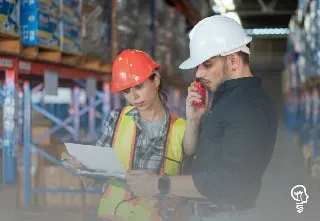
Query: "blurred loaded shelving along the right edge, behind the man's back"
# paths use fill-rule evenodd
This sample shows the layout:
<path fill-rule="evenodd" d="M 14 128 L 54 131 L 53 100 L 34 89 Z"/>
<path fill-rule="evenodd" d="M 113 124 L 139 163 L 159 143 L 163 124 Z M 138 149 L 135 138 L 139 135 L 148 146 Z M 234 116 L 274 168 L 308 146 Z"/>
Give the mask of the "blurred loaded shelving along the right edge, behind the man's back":
<path fill-rule="evenodd" d="M 319 158 L 320 1 L 298 1 L 290 21 L 283 72 L 284 119 L 297 138 L 311 175 L 320 181 Z"/>

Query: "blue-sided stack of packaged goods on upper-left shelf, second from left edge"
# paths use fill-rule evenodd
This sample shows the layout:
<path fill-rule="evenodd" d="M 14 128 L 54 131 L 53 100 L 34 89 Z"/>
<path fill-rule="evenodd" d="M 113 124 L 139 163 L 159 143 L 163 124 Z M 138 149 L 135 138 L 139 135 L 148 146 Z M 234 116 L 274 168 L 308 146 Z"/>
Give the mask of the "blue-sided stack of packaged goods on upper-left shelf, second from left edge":
<path fill-rule="evenodd" d="M 20 1 L 22 44 L 81 54 L 81 12 L 81 0 Z"/>

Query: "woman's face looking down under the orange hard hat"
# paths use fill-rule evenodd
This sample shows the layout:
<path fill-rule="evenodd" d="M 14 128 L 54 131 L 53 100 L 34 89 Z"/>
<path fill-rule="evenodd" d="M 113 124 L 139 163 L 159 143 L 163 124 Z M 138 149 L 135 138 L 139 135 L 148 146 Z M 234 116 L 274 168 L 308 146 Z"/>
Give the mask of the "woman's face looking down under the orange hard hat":
<path fill-rule="evenodd" d="M 152 107 L 159 98 L 158 87 L 160 79 L 156 76 L 153 80 L 147 79 L 142 84 L 123 91 L 127 101 L 138 110 L 144 111 Z"/>

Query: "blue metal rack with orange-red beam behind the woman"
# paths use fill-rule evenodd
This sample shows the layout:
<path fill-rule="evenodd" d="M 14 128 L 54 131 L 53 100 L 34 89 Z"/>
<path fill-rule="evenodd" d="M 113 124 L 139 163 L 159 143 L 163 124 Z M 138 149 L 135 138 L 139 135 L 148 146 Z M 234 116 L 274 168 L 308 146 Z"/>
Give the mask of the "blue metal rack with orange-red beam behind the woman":
<path fill-rule="evenodd" d="M 110 1 L 111 2 L 111 1 Z M 112 24 L 111 24 L 111 57 L 114 59 L 117 55 L 117 39 L 116 24 L 114 17 L 116 9 L 116 0 L 112 0 Z M 154 25 L 155 1 L 151 0 L 151 31 L 154 35 L 156 31 Z M 4 45 L 8 39 L 0 39 L 0 45 Z M 11 40 L 9 39 L 8 42 Z M 15 39 L 15 45 L 20 42 Z M 153 36 L 153 45 L 151 52 L 154 53 L 155 36 Z M 38 58 L 26 58 L 26 50 L 18 50 L 18 46 L 10 51 L 10 45 L 7 45 L 6 52 L 0 52 L 0 80 L 3 78 L 3 87 L 0 88 L 0 104 L 2 106 L 2 137 L 0 135 L 0 149 L 3 152 L 3 171 L 2 182 L 5 184 L 17 184 L 17 157 L 23 157 L 23 189 L 24 189 L 24 206 L 31 206 L 31 196 L 39 193 L 100 193 L 101 189 L 90 188 L 82 190 L 73 189 L 49 189 L 32 187 L 31 185 L 31 154 L 36 153 L 43 156 L 47 160 L 53 162 L 55 165 L 76 176 L 72 171 L 63 167 L 60 161 L 41 149 L 37 144 L 39 141 L 47 136 L 56 133 L 60 129 L 64 129 L 68 133 L 64 139 L 72 142 L 93 143 L 100 131 L 97 129 L 97 116 L 102 122 L 108 115 L 110 109 L 118 108 L 123 105 L 123 97 L 120 94 L 110 94 L 110 72 L 111 65 L 100 65 L 99 68 L 86 65 L 81 68 L 70 66 L 70 64 L 55 63 L 54 53 L 44 53 L 41 61 Z M 29 50 L 29 49 L 28 49 Z M 112 60 L 113 60 L 112 59 Z M 61 60 L 61 59 L 60 59 Z M 32 102 L 32 92 L 43 90 L 43 77 L 46 73 L 54 72 L 58 75 L 59 82 L 64 84 L 72 90 L 72 104 L 73 111 L 67 117 L 62 117 L 59 113 L 50 111 L 47 107 Z M 87 97 L 88 104 L 80 107 L 79 105 L 79 91 L 81 88 L 86 88 L 85 80 L 93 78 L 96 80 L 100 89 L 96 90 L 95 94 Z M 185 89 L 184 84 L 180 78 L 173 76 L 166 79 L 169 83 L 168 101 L 169 108 L 179 114 L 185 116 L 185 105 L 181 103 L 184 101 Z M 1 81 L 0 81 L 1 82 Z M 71 83 L 70 83 L 71 82 Z M 0 85 L 1 86 L 1 85 Z M 98 111 L 100 109 L 100 111 Z M 52 127 L 43 132 L 41 135 L 32 138 L 32 110 L 37 111 L 52 122 Z M 81 125 L 80 117 L 87 115 L 88 119 Z M 100 116 L 100 117 L 99 117 Z M 85 139 L 80 139 L 80 128 L 88 128 L 88 136 Z M 21 152 L 17 151 L 16 146 L 21 144 L 23 149 Z"/>

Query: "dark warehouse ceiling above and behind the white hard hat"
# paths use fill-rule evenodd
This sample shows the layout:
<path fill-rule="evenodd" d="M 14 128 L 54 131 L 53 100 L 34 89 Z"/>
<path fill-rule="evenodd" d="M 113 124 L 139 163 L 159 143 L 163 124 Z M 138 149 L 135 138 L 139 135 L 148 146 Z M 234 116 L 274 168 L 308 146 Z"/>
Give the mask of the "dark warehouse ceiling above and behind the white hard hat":
<path fill-rule="evenodd" d="M 287 28 L 291 16 L 297 8 L 297 0 L 164 0 L 168 5 L 176 9 L 188 18 L 188 23 L 194 25 L 196 19 L 213 14 L 221 14 L 221 7 L 228 8 L 233 5 L 231 11 L 236 12 L 244 28 Z M 188 3 L 186 3 L 188 2 Z M 204 3 L 205 5 L 204 6 Z M 199 16 L 192 16 L 192 10 Z M 217 7 L 218 6 L 218 7 Z M 205 8 L 207 7 L 207 8 Z M 209 10 L 207 10 L 209 9 Z M 205 13 L 203 13 L 205 11 Z M 230 10 L 229 10 L 230 11 Z M 224 13 L 227 11 L 224 11 Z M 196 18 L 198 17 L 198 18 Z M 206 16 L 205 16 L 206 17 Z"/>

